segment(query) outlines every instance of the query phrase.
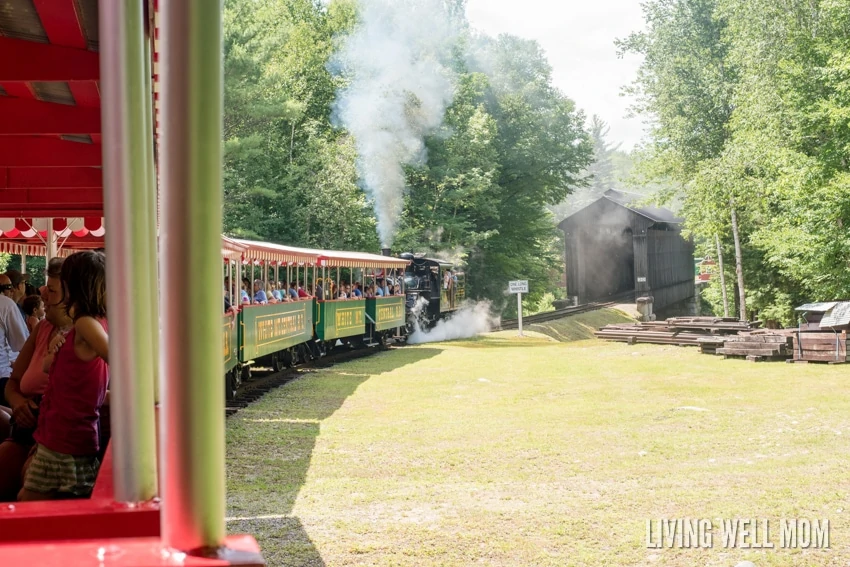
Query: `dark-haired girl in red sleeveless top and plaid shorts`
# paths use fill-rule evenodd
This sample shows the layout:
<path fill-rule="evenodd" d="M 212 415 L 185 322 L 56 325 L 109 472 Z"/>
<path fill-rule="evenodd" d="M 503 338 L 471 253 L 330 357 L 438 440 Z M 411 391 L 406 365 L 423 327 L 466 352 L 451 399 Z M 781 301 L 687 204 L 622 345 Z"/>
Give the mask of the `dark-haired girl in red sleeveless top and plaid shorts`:
<path fill-rule="evenodd" d="M 99 418 L 109 385 L 105 256 L 72 254 L 62 264 L 61 280 L 73 325 L 48 345 L 50 379 L 20 500 L 87 497 L 100 467 Z"/>

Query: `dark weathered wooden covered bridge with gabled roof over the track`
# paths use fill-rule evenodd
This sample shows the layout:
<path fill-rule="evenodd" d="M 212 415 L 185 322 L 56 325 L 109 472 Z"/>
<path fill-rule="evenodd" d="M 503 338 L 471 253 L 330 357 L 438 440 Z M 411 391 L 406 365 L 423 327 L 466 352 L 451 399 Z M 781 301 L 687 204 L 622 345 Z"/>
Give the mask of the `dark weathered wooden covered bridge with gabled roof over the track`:
<path fill-rule="evenodd" d="M 579 303 L 634 291 L 655 309 L 694 297 L 694 247 L 672 211 L 609 190 L 558 225 L 566 242 L 567 295 Z"/>

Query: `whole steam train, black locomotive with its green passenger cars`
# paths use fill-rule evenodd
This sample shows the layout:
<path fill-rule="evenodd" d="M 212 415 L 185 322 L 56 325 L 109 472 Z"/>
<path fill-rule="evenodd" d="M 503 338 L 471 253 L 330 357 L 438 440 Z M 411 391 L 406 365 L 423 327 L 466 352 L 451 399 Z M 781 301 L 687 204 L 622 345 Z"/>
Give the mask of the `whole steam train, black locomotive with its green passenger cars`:
<path fill-rule="evenodd" d="M 232 399 L 252 369 L 280 371 L 334 350 L 404 341 L 456 310 L 465 274 L 451 262 L 412 253 L 388 255 L 315 250 L 222 237 L 225 293 L 240 297 L 243 279 L 299 282 L 321 293 L 297 301 L 244 303 L 225 313 L 225 395 Z M 259 278 L 255 276 L 258 275 Z M 285 270 L 285 273 L 282 271 Z M 293 275 L 294 274 L 294 275 Z M 250 276 L 250 277 L 247 277 Z M 330 282 L 382 282 L 400 293 L 362 300 L 335 299 Z M 249 290 L 250 293 L 250 290 Z"/>

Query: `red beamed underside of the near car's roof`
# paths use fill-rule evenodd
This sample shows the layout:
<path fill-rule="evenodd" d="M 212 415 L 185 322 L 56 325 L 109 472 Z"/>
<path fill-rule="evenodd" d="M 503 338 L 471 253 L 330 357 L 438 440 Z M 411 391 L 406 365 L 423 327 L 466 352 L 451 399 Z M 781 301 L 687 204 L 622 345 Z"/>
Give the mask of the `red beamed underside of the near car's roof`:
<path fill-rule="evenodd" d="M 67 219 L 57 230 L 68 235 L 102 236 L 97 11 L 90 0 L 0 0 L 4 237 L 46 233 L 20 222 L 46 217 Z"/>

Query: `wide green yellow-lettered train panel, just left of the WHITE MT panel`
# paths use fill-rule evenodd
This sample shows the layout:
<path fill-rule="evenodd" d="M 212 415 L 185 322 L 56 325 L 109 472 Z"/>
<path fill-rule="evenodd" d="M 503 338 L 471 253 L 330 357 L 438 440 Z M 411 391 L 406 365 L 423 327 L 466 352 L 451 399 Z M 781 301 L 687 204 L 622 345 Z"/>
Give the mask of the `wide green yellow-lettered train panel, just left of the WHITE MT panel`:
<path fill-rule="evenodd" d="M 313 338 L 314 301 L 246 307 L 240 313 L 240 361 L 247 362 Z"/>

